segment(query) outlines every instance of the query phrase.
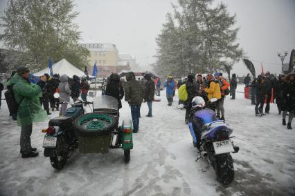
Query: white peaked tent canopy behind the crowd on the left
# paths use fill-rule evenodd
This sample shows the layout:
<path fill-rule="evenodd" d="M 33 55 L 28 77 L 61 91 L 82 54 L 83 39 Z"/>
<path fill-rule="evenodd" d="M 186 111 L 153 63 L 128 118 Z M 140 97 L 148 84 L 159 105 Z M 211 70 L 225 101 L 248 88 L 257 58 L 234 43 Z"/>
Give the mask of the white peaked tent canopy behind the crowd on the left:
<path fill-rule="evenodd" d="M 73 77 L 73 75 L 78 75 L 78 77 L 82 77 L 84 75 L 84 72 L 75 66 L 73 66 L 69 61 L 66 61 L 66 59 L 62 59 L 58 61 L 57 63 L 54 63 L 52 65 L 53 73 L 57 73 L 59 75 L 67 75 L 68 77 Z M 42 76 L 44 73 L 48 73 L 50 75 L 49 68 L 45 68 L 44 70 L 41 70 L 39 72 L 35 72 L 35 76 Z"/>

